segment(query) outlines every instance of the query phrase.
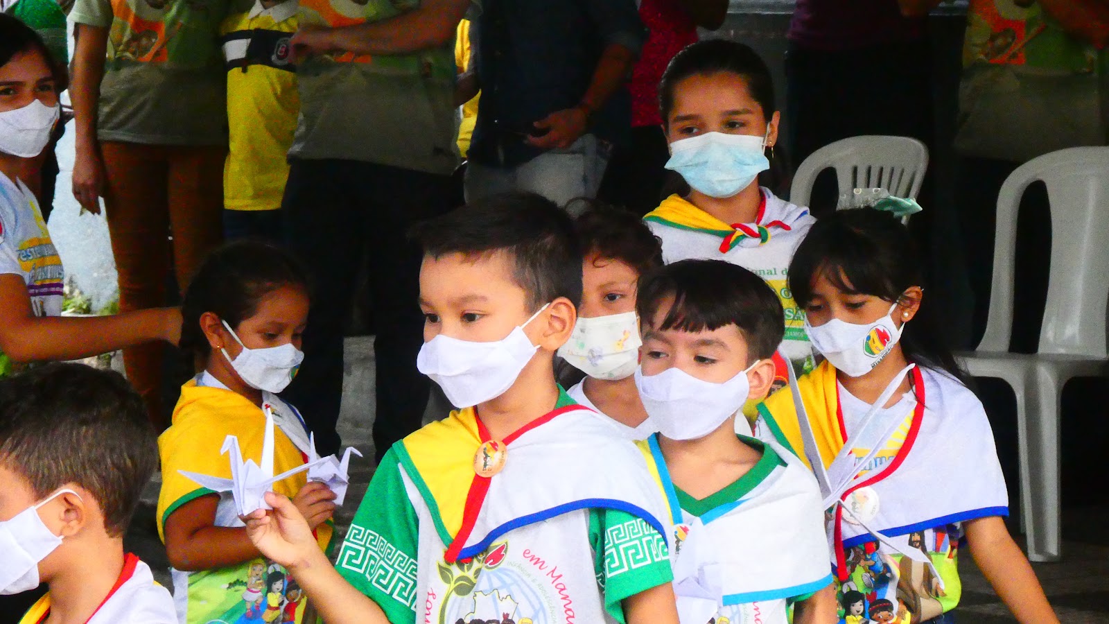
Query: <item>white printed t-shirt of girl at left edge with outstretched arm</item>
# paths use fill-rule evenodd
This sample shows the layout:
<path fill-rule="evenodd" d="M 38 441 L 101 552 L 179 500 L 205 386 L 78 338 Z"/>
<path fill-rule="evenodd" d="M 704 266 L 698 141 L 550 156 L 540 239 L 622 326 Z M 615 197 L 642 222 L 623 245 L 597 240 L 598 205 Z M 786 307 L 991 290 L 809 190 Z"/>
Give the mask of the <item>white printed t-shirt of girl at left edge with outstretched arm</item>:
<path fill-rule="evenodd" d="M 35 316 L 62 313 L 64 273 L 39 202 L 22 181 L 0 173 L 0 274 L 19 275 Z"/>

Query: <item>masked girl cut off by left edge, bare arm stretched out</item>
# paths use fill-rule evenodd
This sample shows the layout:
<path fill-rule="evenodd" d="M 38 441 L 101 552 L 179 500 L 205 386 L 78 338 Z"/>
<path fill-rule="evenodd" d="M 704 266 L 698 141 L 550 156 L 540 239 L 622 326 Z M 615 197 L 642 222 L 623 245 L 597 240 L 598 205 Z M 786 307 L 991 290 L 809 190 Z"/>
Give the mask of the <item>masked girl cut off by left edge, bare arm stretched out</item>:
<path fill-rule="evenodd" d="M 181 331 L 173 308 L 60 318 L 65 276 L 37 198 L 59 114 L 54 67 L 33 30 L 0 14 L 0 376 L 28 362 L 176 343 Z"/>

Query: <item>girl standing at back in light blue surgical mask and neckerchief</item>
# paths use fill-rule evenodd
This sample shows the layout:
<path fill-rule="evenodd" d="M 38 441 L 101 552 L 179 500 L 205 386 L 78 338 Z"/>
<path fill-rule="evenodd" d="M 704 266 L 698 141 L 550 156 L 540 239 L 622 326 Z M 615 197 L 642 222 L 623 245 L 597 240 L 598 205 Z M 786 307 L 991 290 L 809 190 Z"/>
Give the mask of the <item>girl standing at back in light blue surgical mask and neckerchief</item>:
<path fill-rule="evenodd" d="M 786 269 L 815 221 L 807 208 L 759 183 L 779 139 L 770 70 L 751 48 L 726 40 L 693 43 L 678 53 L 659 85 L 671 159 L 667 169 L 689 184 L 644 219 L 662 239 L 669 262 L 724 260 L 766 281 L 785 310 L 782 355 L 812 366 L 803 314 L 786 288 Z M 770 158 L 767 158 L 767 153 Z M 784 361 L 776 362 L 779 382 Z"/>

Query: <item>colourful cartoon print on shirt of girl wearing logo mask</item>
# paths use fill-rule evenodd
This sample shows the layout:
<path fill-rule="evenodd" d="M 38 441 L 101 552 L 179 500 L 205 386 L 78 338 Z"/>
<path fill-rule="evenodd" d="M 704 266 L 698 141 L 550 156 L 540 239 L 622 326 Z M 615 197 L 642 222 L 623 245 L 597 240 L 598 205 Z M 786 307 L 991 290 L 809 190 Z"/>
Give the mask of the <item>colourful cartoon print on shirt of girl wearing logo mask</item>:
<path fill-rule="evenodd" d="M 909 624 L 943 615 L 958 604 L 957 524 L 908 535 L 908 546 L 932 560 L 887 555 L 878 542 L 847 551 L 847 581 L 836 588 L 841 624 Z M 936 572 L 939 573 L 937 576 Z"/>

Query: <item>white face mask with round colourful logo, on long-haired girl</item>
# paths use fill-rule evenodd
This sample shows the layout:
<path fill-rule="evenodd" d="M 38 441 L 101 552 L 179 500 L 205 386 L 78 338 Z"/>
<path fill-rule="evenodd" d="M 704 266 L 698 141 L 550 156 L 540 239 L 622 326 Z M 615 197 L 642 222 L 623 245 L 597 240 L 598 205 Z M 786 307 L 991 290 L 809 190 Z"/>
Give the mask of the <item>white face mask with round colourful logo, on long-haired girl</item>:
<path fill-rule="evenodd" d="M 857 325 L 832 319 L 818 328 L 808 324 L 805 318 L 805 333 L 821 355 L 832 362 L 837 371 L 853 378 L 861 378 L 871 372 L 901 340 L 905 323 L 898 328 L 894 324 L 893 312 L 897 303 L 889 306 L 889 312 L 874 321 Z"/>

